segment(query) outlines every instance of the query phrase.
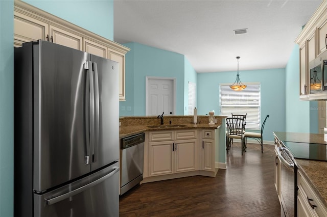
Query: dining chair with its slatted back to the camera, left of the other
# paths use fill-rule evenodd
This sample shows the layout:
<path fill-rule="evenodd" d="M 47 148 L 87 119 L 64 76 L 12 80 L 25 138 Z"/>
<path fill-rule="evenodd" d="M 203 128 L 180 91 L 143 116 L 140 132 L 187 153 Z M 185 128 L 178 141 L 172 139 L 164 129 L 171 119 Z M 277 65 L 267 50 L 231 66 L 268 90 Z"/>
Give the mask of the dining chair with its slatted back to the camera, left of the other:
<path fill-rule="evenodd" d="M 230 147 L 232 139 L 241 140 L 241 152 L 245 151 L 245 140 L 244 140 L 244 118 L 226 118 L 227 133 L 226 133 L 226 148 L 227 153 Z"/>

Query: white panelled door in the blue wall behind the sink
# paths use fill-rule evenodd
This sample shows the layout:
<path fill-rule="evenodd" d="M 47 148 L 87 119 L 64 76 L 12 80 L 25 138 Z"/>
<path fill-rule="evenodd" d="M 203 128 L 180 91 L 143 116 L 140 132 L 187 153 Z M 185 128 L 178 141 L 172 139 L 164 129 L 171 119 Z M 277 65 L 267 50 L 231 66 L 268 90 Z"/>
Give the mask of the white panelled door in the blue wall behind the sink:
<path fill-rule="evenodd" d="M 147 77 L 146 115 L 175 114 L 175 79 Z"/>

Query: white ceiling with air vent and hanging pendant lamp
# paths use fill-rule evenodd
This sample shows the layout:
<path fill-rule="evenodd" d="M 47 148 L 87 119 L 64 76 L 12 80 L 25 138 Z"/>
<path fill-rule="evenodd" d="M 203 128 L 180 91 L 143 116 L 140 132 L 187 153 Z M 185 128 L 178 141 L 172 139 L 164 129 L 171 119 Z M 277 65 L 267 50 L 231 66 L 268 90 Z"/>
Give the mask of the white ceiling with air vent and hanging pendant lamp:
<path fill-rule="evenodd" d="M 197 72 L 284 68 L 321 0 L 114 0 L 114 41 L 184 55 Z M 233 30 L 248 29 L 235 35 Z"/>

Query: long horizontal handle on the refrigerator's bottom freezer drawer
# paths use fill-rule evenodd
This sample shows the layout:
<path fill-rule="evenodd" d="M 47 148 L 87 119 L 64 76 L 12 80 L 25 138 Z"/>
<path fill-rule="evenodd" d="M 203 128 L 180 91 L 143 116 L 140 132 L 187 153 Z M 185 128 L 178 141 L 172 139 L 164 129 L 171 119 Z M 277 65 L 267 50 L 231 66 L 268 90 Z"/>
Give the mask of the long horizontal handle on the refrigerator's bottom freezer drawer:
<path fill-rule="evenodd" d="M 104 180 L 106 180 L 106 179 L 110 178 L 111 176 L 113 176 L 118 171 L 119 171 L 119 167 L 113 167 L 113 170 L 110 173 L 108 173 L 107 175 L 101 177 L 100 179 L 97 179 L 96 181 L 88 183 L 88 184 L 86 184 L 86 185 L 84 185 L 82 187 L 79 187 L 79 188 L 77 188 L 77 189 L 75 189 L 75 190 L 73 190 L 71 192 L 60 195 L 58 197 L 55 197 L 55 198 L 52 198 L 52 199 L 44 199 L 44 200 L 46 201 L 46 204 L 53 205 L 55 203 L 58 203 L 58 202 L 60 202 L 60 201 L 62 201 L 64 199 L 67 199 L 69 197 L 77 195 L 78 193 L 81 193 L 81 192 L 85 191 L 86 189 L 91 188 L 91 187 L 103 182 Z"/>

